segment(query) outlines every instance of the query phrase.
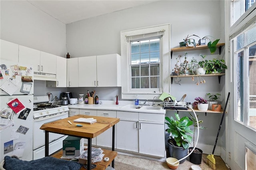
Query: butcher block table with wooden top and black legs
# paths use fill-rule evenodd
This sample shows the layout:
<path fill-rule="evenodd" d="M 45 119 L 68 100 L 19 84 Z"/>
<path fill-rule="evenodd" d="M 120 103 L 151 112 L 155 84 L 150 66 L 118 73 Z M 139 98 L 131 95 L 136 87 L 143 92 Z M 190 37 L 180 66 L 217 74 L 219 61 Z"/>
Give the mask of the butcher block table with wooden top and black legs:
<path fill-rule="evenodd" d="M 73 122 L 75 119 L 78 119 L 78 118 L 94 118 L 97 120 L 97 122 L 93 124 Z M 70 125 L 68 121 L 70 121 L 72 125 Z M 112 130 L 113 130 L 112 131 L 112 151 L 108 150 L 107 152 L 108 152 L 108 155 L 110 155 L 109 162 L 112 161 L 112 167 L 114 168 L 114 158 L 117 155 L 117 152 L 114 151 L 115 150 L 114 134 L 115 134 L 115 125 L 119 121 L 120 120 L 118 118 L 76 115 L 76 116 L 68 117 L 66 119 L 60 119 L 57 121 L 46 123 L 40 127 L 40 129 L 45 130 L 45 156 L 49 156 L 49 132 L 52 132 L 52 133 L 58 133 L 58 134 L 64 134 L 64 135 L 76 136 L 79 138 L 88 139 L 88 160 L 91 160 L 92 138 L 95 138 L 102 132 L 112 127 Z M 82 127 L 76 127 L 76 124 L 80 124 L 82 125 Z M 88 170 L 91 170 L 91 164 L 92 164 L 91 161 L 88 161 Z M 103 165 L 98 164 L 99 166 L 97 165 L 96 169 L 104 169 L 104 166 L 106 168 L 107 164 L 110 164 L 110 163 L 104 163 Z"/>

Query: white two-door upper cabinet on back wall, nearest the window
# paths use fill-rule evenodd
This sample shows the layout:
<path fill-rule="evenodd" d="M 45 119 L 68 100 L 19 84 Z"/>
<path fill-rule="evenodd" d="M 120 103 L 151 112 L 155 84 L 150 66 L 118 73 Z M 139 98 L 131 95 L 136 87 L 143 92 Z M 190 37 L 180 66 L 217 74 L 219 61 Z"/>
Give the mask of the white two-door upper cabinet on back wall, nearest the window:
<path fill-rule="evenodd" d="M 118 54 L 78 58 L 79 87 L 121 87 L 121 56 Z"/>

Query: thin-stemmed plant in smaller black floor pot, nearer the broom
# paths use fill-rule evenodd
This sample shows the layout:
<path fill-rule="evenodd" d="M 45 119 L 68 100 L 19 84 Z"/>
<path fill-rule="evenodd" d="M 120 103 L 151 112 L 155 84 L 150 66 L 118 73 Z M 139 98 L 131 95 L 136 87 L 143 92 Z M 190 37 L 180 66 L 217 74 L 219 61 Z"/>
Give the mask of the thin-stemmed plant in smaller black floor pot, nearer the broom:
<path fill-rule="evenodd" d="M 196 123 L 196 118 L 194 118 L 191 115 L 191 113 L 189 113 L 189 114 L 190 114 L 190 117 L 191 117 L 189 119 L 193 122 L 193 125 L 194 125 L 193 146 L 195 146 L 195 131 L 196 131 L 196 128 L 199 128 L 199 129 L 207 129 L 207 128 L 201 127 L 201 126 L 198 127 L 197 123 Z M 196 115 L 196 117 L 198 118 L 198 115 Z M 198 124 L 202 124 L 202 123 L 203 123 L 202 120 L 198 121 Z M 188 148 L 188 151 L 191 152 L 193 148 L 194 147 Z M 193 163 L 193 164 L 197 164 L 197 165 L 201 164 L 201 162 L 202 162 L 202 154 L 203 154 L 203 151 L 200 148 L 195 148 L 193 153 L 190 154 L 190 156 L 189 156 L 190 162 Z"/>

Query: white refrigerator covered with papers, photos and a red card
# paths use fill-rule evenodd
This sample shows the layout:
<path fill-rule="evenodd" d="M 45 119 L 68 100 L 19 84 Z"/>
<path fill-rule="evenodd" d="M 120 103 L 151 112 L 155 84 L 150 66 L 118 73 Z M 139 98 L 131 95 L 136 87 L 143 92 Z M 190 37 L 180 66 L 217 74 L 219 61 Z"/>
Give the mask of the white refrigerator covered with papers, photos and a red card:
<path fill-rule="evenodd" d="M 33 67 L 0 59 L 0 71 L 0 160 L 13 154 L 32 160 Z"/>

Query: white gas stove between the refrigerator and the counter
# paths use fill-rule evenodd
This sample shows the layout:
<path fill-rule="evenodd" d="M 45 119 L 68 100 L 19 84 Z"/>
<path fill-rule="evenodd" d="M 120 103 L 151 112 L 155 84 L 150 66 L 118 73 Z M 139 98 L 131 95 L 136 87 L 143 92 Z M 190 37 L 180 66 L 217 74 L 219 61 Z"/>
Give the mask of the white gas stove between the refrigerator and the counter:
<path fill-rule="evenodd" d="M 49 103 L 48 96 L 34 97 L 34 122 L 33 122 L 33 160 L 44 157 L 44 130 L 40 127 L 68 117 L 68 106 L 54 105 Z M 62 141 L 66 138 L 63 134 L 49 133 L 49 154 L 62 148 Z"/>

